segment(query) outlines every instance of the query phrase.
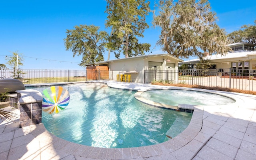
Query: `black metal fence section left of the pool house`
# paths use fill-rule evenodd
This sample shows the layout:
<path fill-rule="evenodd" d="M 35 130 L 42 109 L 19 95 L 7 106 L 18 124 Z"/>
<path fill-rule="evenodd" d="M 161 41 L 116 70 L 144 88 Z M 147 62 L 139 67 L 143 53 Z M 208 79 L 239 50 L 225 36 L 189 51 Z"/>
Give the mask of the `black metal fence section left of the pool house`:
<path fill-rule="evenodd" d="M 0 70 L 0 78 L 17 78 L 14 70 Z M 19 75 L 24 84 L 112 80 L 113 71 L 86 70 L 22 70 Z"/>

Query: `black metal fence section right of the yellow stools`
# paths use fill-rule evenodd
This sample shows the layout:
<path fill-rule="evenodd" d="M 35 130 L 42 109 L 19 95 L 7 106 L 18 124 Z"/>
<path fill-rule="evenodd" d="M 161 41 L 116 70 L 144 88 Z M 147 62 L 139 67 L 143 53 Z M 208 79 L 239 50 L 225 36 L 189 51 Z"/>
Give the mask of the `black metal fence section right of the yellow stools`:
<path fill-rule="evenodd" d="M 256 70 L 229 68 L 145 71 L 144 83 L 149 84 L 153 81 L 256 91 Z"/>

